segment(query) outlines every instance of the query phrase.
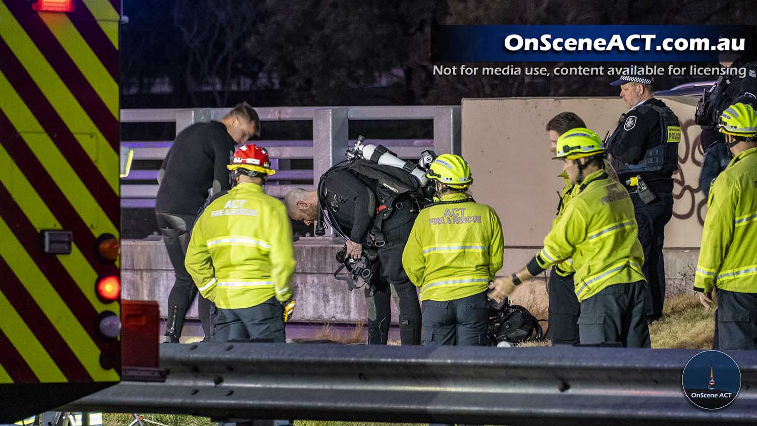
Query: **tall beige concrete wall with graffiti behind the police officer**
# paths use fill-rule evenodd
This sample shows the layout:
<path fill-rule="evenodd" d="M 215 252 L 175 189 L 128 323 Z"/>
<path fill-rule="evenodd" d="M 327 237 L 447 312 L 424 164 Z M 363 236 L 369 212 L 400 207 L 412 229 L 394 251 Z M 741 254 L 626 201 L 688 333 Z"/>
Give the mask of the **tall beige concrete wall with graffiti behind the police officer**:
<path fill-rule="evenodd" d="M 681 120 L 681 168 L 674 175 L 674 217 L 665 247 L 699 247 L 706 210 L 699 189 L 699 126 L 692 98 L 663 98 Z M 620 98 L 463 99 L 463 157 L 473 171 L 476 201 L 494 207 L 505 244 L 539 247 L 550 230 L 562 189 L 562 162 L 550 161 L 544 126 L 556 113 L 578 114 L 601 137 L 612 132 L 626 108 Z M 527 214 L 524 214 L 527 212 Z"/>

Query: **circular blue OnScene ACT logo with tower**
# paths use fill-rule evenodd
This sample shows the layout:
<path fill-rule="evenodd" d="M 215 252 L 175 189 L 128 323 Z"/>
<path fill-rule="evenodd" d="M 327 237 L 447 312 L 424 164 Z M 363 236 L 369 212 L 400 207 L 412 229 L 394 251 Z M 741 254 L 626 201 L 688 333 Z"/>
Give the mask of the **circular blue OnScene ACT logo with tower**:
<path fill-rule="evenodd" d="M 701 409 L 721 409 L 732 403 L 741 389 L 741 372 L 731 356 L 706 350 L 689 359 L 683 378 L 686 397 Z"/>

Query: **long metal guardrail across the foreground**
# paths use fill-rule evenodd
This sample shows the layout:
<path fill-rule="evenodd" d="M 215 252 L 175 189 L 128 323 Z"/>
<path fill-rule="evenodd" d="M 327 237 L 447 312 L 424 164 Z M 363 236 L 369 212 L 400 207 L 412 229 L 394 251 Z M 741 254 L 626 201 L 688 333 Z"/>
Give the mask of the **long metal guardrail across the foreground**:
<path fill-rule="evenodd" d="M 164 344 L 165 383 L 122 382 L 70 411 L 474 424 L 757 423 L 757 352 L 731 351 L 741 390 L 706 411 L 681 389 L 697 350 Z"/>

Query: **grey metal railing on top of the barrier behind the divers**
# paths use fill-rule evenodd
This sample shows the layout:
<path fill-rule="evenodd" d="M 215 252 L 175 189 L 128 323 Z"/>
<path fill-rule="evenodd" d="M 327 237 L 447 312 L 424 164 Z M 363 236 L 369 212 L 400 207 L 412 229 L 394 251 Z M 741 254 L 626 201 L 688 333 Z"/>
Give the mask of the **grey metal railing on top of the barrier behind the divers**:
<path fill-rule="evenodd" d="M 433 120 L 433 139 L 373 140 L 382 143 L 402 158 L 417 158 L 421 151 L 433 147 L 438 154 L 460 152 L 460 107 L 279 107 L 255 108 L 262 121 L 307 120 L 313 122 L 313 140 L 258 141 L 269 148 L 273 166 L 279 160 L 313 159 L 312 170 L 282 170 L 272 176 L 266 192 L 284 197 L 291 185 L 281 181 L 313 180 L 329 167 L 344 160 L 344 151 L 354 141 L 347 140 L 349 120 Z M 194 110 L 147 109 L 121 110 L 122 123 L 176 123 L 176 133 L 192 123 L 217 120 L 229 108 L 201 108 Z M 369 140 L 370 141 L 370 140 Z M 122 141 L 135 151 L 135 160 L 163 160 L 170 141 Z M 135 180 L 157 179 L 157 170 L 134 170 L 122 179 L 121 207 L 154 208 L 156 184 L 132 184 Z M 296 185 L 312 189 L 313 185 Z"/>

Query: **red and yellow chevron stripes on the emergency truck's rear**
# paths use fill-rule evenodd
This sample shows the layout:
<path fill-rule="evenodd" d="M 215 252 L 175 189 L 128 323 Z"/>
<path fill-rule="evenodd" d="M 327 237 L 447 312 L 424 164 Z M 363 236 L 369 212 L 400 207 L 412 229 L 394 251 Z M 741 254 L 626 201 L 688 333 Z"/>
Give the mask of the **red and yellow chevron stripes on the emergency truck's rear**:
<path fill-rule="evenodd" d="M 70 13 L 0 0 L 0 385 L 120 380 L 120 343 L 97 330 L 120 302 L 96 252 L 118 237 L 120 0 Z M 44 253 L 43 229 L 72 232 Z"/>

